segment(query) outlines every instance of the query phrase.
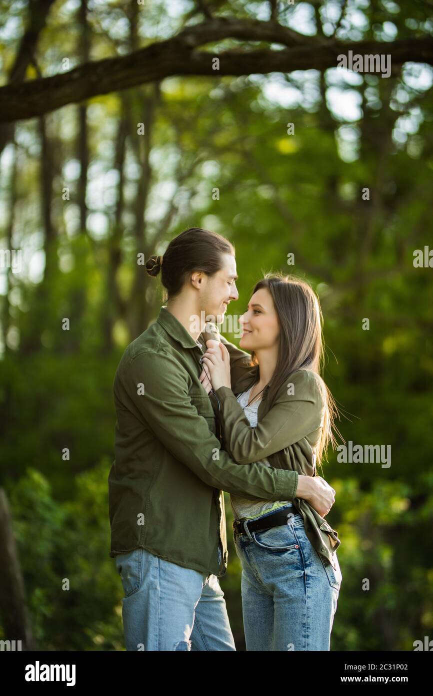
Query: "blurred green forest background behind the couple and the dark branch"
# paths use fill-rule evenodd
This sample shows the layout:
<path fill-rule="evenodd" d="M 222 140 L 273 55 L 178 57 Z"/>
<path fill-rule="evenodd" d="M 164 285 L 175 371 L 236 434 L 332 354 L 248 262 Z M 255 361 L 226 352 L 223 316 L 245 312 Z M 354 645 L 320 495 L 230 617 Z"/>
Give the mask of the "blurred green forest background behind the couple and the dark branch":
<path fill-rule="evenodd" d="M 267 21 L 272 8 L 309 37 L 391 45 L 433 31 L 432 3 L 419 0 L 58 0 L 40 3 L 40 22 L 35 4 L 0 1 L 1 86 L 129 54 L 206 17 Z M 269 44 L 205 49 L 240 47 Z M 1 131 L 0 246 L 22 250 L 20 272 L 0 269 L 1 486 L 37 647 L 124 649 L 108 556 L 113 377 L 162 303 L 142 259 L 192 226 L 236 246 L 235 315 L 265 271 L 312 283 L 338 429 L 346 442 L 391 445 L 389 468 L 338 463 L 333 450 L 324 462 L 343 572 L 332 649 L 433 638 L 433 269 L 414 266 L 414 251 L 433 247 L 432 80 L 419 60 L 388 79 L 337 68 L 174 75 Z M 220 583 L 243 650 L 228 496 L 226 509 Z M 19 638 L 0 574 L 0 638 Z"/>

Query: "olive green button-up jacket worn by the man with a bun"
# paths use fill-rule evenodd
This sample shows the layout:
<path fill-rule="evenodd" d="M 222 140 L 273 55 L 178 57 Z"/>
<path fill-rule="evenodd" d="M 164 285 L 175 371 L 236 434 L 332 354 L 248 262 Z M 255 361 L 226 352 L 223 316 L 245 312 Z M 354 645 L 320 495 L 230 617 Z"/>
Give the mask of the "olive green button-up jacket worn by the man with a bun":
<path fill-rule="evenodd" d="M 222 576 L 228 555 L 222 490 L 257 500 L 295 496 L 297 470 L 243 466 L 222 450 L 215 397 L 199 381 L 205 350 L 203 335 L 196 343 L 161 307 L 117 366 L 115 459 L 108 475 L 111 557 L 142 547 L 182 567 Z M 244 363 L 239 351 L 234 377 Z"/>

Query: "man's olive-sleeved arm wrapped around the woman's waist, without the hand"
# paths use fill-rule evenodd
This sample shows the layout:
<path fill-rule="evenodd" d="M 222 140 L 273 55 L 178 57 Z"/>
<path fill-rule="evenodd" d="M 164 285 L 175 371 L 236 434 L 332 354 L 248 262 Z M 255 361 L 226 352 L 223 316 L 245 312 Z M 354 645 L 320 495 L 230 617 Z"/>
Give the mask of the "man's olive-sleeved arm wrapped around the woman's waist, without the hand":
<path fill-rule="evenodd" d="M 220 449 L 218 438 L 200 416 L 188 393 L 186 373 L 170 354 L 138 354 L 124 370 L 122 400 L 154 432 L 173 457 L 204 483 L 259 500 L 300 497 L 298 473 L 261 464 L 239 466 Z M 138 385 L 144 393 L 138 393 Z"/>

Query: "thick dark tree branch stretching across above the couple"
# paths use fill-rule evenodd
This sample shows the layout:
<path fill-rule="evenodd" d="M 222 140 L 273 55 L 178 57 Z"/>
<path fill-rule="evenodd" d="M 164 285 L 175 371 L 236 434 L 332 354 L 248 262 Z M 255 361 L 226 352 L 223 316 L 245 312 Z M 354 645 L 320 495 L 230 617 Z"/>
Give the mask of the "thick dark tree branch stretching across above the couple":
<path fill-rule="evenodd" d="M 198 52 L 198 46 L 227 38 L 279 43 L 281 51 L 239 49 Z M 86 63 L 63 74 L 0 88 L 0 121 L 33 118 L 102 94 L 129 89 L 174 75 L 246 75 L 335 68 L 337 56 L 350 49 L 358 54 L 391 54 L 393 69 L 406 61 L 433 65 L 433 38 L 393 42 L 342 42 L 304 36 L 277 22 L 213 19 L 187 27 L 176 36 L 139 49 L 128 56 Z M 213 58 L 220 59 L 214 70 Z"/>

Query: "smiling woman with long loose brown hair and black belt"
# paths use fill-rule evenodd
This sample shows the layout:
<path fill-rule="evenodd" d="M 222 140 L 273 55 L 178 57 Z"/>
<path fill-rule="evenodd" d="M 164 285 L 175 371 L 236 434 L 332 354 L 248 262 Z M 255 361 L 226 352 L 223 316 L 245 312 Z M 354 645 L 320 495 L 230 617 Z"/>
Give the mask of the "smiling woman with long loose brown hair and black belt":
<path fill-rule="evenodd" d="M 224 446 L 238 464 L 316 475 L 334 445 L 336 406 L 319 374 L 321 322 L 308 283 L 268 274 L 242 317 L 240 347 L 252 359 L 233 391 L 226 347 L 206 351 L 202 383 L 220 401 Z M 247 650 L 329 650 L 342 580 L 337 533 L 300 498 L 231 495 L 231 507 Z"/>

